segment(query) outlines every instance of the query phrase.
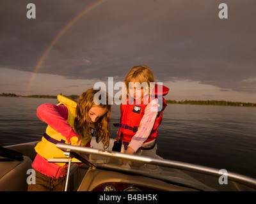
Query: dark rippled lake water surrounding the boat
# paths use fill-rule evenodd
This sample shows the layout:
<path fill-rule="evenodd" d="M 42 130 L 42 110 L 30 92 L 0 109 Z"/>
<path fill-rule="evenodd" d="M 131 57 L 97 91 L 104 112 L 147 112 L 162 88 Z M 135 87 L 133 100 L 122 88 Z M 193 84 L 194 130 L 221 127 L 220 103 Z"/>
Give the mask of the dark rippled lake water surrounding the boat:
<path fill-rule="evenodd" d="M 36 108 L 57 99 L 0 97 L 0 145 L 40 140 L 47 124 Z M 119 122 L 113 105 L 111 123 Z M 226 169 L 256 178 L 256 108 L 168 104 L 157 138 L 165 159 Z M 111 126 L 111 138 L 117 128 Z"/>

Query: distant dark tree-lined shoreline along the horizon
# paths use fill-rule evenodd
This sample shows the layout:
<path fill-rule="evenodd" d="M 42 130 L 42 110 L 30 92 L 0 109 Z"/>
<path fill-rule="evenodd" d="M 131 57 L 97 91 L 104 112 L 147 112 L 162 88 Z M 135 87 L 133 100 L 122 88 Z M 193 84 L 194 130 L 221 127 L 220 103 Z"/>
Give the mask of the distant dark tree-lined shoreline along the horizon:
<path fill-rule="evenodd" d="M 51 95 L 29 95 L 29 96 L 18 96 L 14 93 L 2 93 L 0 96 L 5 97 L 28 97 L 28 98 L 53 98 L 56 99 L 57 96 L 51 96 Z M 78 99 L 79 96 L 72 95 L 68 96 L 72 99 Z M 243 102 L 231 102 L 231 101 L 191 101 L 191 100 L 185 100 L 185 101 L 175 101 L 175 100 L 166 100 L 166 103 L 170 104 L 185 104 L 185 105 L 211 105 L 211 106 L 243 106 L 243 107 L 256 107 L 256 103 L 243 103 Z"/>

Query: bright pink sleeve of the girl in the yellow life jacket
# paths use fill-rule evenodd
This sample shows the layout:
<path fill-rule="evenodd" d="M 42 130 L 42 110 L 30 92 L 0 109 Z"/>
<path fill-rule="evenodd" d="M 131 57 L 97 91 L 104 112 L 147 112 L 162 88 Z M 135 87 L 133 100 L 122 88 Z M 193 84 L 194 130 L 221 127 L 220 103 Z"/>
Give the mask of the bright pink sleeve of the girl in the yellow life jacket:
<path fill-rule="evenodd" d="M 56 106 L 45 103 L 37 108 L 36 115 L 40 120 L 51 126 L 51 128 L 65 136 L 65 138 L 68 140 L 68 143 L 70 143 L 70 138 L 73 136 L 79 137 L 70 126 L 70 124 L 68 124 L 66 121 L 68 118 L 68 109 L 66 106 Z"/>

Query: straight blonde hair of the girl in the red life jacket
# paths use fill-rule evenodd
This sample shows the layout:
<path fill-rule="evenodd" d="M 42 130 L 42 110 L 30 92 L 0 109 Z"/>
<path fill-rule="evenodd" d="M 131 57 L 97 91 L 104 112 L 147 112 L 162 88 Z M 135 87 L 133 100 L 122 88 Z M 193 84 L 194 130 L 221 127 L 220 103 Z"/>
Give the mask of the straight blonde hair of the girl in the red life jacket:
<path fill-rule="evenodd" d="M 148 94 L 150 95 L 150 82 L 155 82 L 155 77 L 153 72 L 150 68 L 146 65 L 139 65 L 134 66 L 131 68 L 131 70 L 127 73 L 124 83 L 126 85 L 126 90 L 122 93 L 122 98 L 128 97 L 129 98 L 129 82 L 131 82 L 132 79 L 135 79 L 136 82 L 139 82 L 140 84 L 143 84 L 146 82 L 148 84 L 148 89 L 144 89 L 144 96 Z M 126 96 L 125 96 L 126 95 Z M 143 98 L 142 98 L 143 100 Z"/>

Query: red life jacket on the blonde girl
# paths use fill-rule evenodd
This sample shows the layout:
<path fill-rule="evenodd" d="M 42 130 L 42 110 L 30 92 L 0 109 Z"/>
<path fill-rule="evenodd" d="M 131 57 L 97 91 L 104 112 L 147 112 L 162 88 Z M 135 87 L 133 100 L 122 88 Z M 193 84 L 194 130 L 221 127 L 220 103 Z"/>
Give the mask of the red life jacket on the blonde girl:
<path fill-rule="evenodd" d="M 152 101 L 152 99 L 157 98 L 159 105 L 162 105 L 162 106 L 160 106 L 159 108 L 152 131 L 144 143 L 150 142 L 155 138 L 157 138 L 157 135 L 158 135 L 157 128 L 162 122 L 163 111 L 167 106 L 163 96 L 168 94 L 169 89 L 162 85 L 161 87 L 159 86 L 160 85 L 155 86 L 154 94 L 153 96 L 152 95 L 150 96 L 149 101 Z M 157 90 L 157 87 L 158 87 L 158 90 Z M 118 132 L 118 138 L 122 136 L 122 142 L 131 142 L 132 137 L 138 131 L 138 127 L 140 126 L 140 121 L 144 115 L 146 106 L 147 104 L 145 105 L 144 104 L 140 105 L 136 103 L 129 104 L 128 101 L 127 101 L 127 104 L 125 105 L 121 104 L 121 119 L 120 119 L 120 123 L 117 126 L 120 128 Z"/>

